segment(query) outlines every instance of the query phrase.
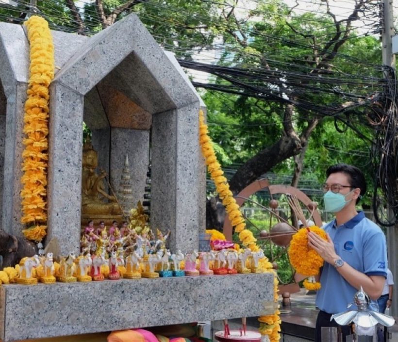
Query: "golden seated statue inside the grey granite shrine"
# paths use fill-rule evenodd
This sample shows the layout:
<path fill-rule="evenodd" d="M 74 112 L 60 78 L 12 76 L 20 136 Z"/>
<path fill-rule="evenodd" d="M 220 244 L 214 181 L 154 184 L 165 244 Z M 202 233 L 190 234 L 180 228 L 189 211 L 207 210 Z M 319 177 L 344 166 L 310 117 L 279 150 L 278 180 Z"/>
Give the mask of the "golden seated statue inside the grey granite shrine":
<path fill-rule="evenodd" d="M 82 172 L 82 222 L 87 219 L 101 218 L 104 221 L 122 218 L 122 210 L 116 197 L 105 191 L 105 171 L 97 175 L 98 154 L 87 139 L 83 146 L 83 172 Z"/>

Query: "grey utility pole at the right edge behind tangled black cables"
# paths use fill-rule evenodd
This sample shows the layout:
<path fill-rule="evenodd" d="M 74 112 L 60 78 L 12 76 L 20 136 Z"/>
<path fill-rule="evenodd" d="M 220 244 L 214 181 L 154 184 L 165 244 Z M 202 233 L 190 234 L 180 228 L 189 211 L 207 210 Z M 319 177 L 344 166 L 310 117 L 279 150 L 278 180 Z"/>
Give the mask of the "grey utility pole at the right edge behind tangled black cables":
<path fill-rule="evenodd" d="M 383 11 L 381 13 L 381 44 L 382 44 L 382 61 L 383 65 L 390 66 L 395 73 L 395 55 L 392 50 L 392 36 L 394 35 L 394 16 L 393 16 L 393 0 L 383 0 Z M 384 72 L 386 78 L 394 77 L 389 70 Z M 393 115 L 393 113 L 391 113 Z M 388 209 L 388 215 L 394 219 L 394 212 Z M 398 315 L 398 224 L 387 228 L 387 248 L 388 248 L 388 267 L 394 277 L 394 293 L 391 303 L 390 315 Z"/>

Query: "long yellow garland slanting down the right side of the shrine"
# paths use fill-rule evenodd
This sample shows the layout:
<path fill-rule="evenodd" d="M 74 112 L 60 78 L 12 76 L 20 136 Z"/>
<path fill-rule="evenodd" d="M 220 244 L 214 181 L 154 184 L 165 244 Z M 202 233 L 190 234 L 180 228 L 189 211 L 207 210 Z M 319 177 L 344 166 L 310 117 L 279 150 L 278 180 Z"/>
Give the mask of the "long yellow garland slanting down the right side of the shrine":
<path fill-rule="evenodd" d="M 257 239 L 253 236 L 253 233 L 249 229 L 246 229 L 245 219 L 243 218 L 242 213 L 239 211 L 239 205 L 236 203 L 236 200 L 232 195 L 228 181 L 224 177 L 224 172 L 221 170 L 221 165 L 217 162 L 216 153 L 212 146 L 208 132 L 207 125 L 204 123 L 203 111 L 200 110 L 199 142 L 202 149 L 202 154 L 206 161 L 207 169 L 210 173 L 210 177 L 216 185 L 217 193 L 226 208 L 226 212 L 228 213 L 232 227 L 235 228 L 235 232 L 239 233 L 239 241 L 243 246 L 250 248 L 251 251 L 259 251 L 260 247 L 256 244 Z M 275 273 L 275 270 L 272 268 L 272 264 L 267 258 L 263 258 L 259 261 L 259 268 L 266 272 Z M 276 275 L 274 277 L 274 303 L 276 309 L 273 314 L 259 317 L 259 331 L 262 335 L 267 335 L 270 342 L 279 342 L 281 338 L 279 334 L 281 331 L 281 320 L 279 318 L 280 311 L 278 305 L 278 279 Z"/>

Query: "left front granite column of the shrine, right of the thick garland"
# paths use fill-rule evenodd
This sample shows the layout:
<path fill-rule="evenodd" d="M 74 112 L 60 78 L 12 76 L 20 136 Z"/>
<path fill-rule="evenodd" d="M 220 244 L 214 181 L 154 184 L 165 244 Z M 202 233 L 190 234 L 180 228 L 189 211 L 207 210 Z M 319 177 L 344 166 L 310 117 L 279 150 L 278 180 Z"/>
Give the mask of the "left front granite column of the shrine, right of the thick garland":
<path fill-rule="evenodd" d="M 53 82 L 50 86 L 46 241 L 56 237 L 61 255 L 79 253 L 80 249 L 82 122 L 83 96 Z"/>

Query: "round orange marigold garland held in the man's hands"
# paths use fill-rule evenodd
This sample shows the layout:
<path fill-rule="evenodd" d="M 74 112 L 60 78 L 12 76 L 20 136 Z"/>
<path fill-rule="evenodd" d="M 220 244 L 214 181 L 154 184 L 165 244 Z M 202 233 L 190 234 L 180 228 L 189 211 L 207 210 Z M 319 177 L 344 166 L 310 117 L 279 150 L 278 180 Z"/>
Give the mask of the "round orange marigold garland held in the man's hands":
<path fill-rule="evenodd" d="M 323 229 L 317 226 L 311 226 L 308 229 L 325 241 L 328 240 Z M 308 277 L 316 276 L 324 262 L 322 257 L 313 248 L 308 246 L 307 228 L 301 228 L 293 235 L 288 254 L 290 263 L 294 269 L 298 273 Z M 312 277 L 304 281 L 304 287 L 307 290 L 319 290 L 321 284 L 315 282 L 315 278 Z"/>

